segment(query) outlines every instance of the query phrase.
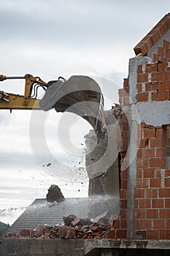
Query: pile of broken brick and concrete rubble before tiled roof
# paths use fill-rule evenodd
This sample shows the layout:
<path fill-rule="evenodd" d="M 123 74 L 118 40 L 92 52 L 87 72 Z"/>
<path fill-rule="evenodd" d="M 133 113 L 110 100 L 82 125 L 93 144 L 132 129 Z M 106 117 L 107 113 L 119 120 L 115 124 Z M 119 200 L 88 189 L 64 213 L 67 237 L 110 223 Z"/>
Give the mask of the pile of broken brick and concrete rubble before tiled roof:
<path fill-rule="evenodd" d="M 112 233 L 112 226 L 109 224 L 92 223 L 90 219 L 78 219 L 77 217 L 73 219 L 73 216 L 65 217 L 65 220 L 67 225 L 66 223 L 55 225 L 55 227 L 38 225 L 34 230 L 20 230 L 20 234 L 7 233 L 6 238 L 104 239 L 109 238 L 109 234 Z"/>

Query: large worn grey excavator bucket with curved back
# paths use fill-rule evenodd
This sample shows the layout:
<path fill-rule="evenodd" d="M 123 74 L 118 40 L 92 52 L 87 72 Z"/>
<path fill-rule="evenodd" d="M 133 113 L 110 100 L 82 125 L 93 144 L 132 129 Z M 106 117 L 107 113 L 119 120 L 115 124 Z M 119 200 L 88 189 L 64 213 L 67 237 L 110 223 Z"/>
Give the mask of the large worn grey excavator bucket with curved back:
<path fill-rule="evenodd" d="M 101 89 L 88 76 L 73 75 L 69 80 L 59 78 L 47 83 L 47 90 L 39 105 L 45 111 L 55 108 L 57 112 L 75 113 L 98 131 L 105 125 Z"/>

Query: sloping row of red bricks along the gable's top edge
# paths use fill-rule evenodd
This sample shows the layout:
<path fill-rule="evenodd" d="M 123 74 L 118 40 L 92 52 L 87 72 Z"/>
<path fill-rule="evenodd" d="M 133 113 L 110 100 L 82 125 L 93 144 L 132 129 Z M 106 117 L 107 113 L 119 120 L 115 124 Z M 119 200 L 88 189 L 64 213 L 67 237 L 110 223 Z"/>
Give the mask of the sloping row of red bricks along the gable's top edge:
<path fill-rule="evenodd" d="M 134 52 L 137 54 L 142 53 L 144 56 L 155 42 L 160 39 L 163 34 L 170 28 L 170 13 L 166 14 L 153 29 L 135 46 Z"/>

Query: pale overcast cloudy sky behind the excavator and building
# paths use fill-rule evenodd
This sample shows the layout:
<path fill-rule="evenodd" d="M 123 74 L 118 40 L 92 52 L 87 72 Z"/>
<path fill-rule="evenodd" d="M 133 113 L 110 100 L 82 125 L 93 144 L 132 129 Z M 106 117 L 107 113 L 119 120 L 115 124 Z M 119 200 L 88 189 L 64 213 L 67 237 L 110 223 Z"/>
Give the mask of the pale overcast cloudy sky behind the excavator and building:
<path fill-rule="evenodd" d="M 46 82 L 60 75 L 66 79 L 71 75 L 104 78 L 102 90 L 109 97 L 107 108 L 108 104 L 111 107 L 117 101 L 117 88 L 128 75 L 134 46 L 169 7 L 169 0 L 0 0 L 0 73 L 30 73 Z M 23 81 L 4 81 L 0 90 L 23 94 L 23 85 Z M 83 157 L 69 154 L 58 138 L 58 124 L 66 116 L 62 119 L 52 110 L 45 121 L 45 140 L 53 157 L 45 152 L 37 157 L 30 143 L 30 129 L 41 116 L 20 110 L 11 114 L 1 110 L 0 116 L 0 221 L 11 224 L 19 213 L 10 208 L 22 211 L 35 198 L 45 197 L 50 184 L 58 184 L 65 197 L 88 195 Z M 90 125 L 80 118 L 73 123 L 70 138 L 83 151 L 83 136 Z M 32 140 L 41 129 L 35 127 Z M 61 170 L 55 159 L 67 170 Z M 47 167 L 49 162 L 52 165 Z"/>

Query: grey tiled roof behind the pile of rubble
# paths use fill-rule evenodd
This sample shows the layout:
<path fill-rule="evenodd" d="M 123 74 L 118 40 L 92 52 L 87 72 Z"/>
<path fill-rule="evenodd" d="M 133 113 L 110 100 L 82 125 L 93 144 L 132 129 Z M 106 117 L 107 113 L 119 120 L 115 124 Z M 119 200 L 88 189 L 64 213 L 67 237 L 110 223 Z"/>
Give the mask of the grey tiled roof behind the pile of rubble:
<path fill-rule="evenodd" d="M 36 199 L 7 230 L 20 233 L 24 228 L 34 229 L 37 225 L 54 226 L 63 222 L 63 216 L 74 214 L 79 218 L 88 217 L 88 198 L 66 198 L 63 203 L 49 205 L 46 199 Z"/>

